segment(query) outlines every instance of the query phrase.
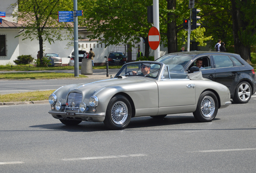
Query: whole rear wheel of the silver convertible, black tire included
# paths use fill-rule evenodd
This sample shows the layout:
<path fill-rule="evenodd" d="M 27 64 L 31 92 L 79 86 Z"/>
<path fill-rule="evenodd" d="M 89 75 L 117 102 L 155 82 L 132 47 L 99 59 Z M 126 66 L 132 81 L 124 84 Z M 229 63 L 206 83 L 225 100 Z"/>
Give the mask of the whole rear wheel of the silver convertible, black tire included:
<path fill-rule="evenodd" d="M 209 122 L 215 119 L 218 113 L 218 99 L 211 91 L 203 92 L 196 106 L 196 111 L 193 113 L 195 119 L 199 122 Z"/>

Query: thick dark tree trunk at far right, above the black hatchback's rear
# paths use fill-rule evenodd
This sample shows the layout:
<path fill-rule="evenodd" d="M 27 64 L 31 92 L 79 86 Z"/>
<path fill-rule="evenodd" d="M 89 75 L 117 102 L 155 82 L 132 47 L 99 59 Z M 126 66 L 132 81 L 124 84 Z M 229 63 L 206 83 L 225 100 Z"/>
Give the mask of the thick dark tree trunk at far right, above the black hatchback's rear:
<path fill-rule="evenodd" d="M 250 61 L 250 46 L 245 46 L 240 38 L 241 30 L 244 29 L 244 22 L 241 19 L 241 12 L 240 8 L 241 6 L 237 6 L 235 0 L 231 0 L 231 5 L 232 5 L 232 22 L 233 22 L 233 39 L 234 39 L 234 47 L 235 47 L 235 53 L 239 54 L 246 62 L 249 64 L 251 63 Z"/>

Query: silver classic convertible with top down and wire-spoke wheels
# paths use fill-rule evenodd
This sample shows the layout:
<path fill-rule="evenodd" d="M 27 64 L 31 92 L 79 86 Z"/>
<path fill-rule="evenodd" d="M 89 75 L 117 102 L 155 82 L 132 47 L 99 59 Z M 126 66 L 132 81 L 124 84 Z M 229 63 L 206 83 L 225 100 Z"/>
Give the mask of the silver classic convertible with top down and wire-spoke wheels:
<path fill-rule="evenodd" d="M 218 109 L 231 104 L 230 92 L 194 69 L 186 74 L 162 62 L 129 62 L 114 78 L 60 87 L 49 97 L 49 113 L 65 125 L 94 121 L 110 129 L 126 128 L 132 117 L 177 113 L 193 113 L 197 121 L 209 122 Z"/>

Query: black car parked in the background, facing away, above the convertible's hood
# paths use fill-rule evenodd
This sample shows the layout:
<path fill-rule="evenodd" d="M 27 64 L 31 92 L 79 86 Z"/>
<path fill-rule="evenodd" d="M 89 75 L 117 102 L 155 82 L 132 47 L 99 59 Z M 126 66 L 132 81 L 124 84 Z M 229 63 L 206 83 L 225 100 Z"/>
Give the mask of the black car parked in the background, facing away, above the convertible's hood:
<path fill-rule="evenodd" d="M 127 56 L 121 51 L 108 52 L 107 56 L 104 56 L 104 58 L 107 58 L 106 62 L 108 61 L 109 65 L 123 65 L 127 62 Z"/>

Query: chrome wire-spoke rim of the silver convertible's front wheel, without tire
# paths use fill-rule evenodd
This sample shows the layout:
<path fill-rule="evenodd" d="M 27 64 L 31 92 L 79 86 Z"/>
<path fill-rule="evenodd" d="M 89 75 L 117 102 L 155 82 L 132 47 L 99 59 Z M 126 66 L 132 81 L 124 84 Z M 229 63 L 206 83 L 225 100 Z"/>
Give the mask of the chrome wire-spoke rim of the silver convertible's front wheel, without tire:
<path fill-rule="evenodd" d="M 116 124 L 124 123 L 128 117 L 127 105 L 122 101 L 116 102 L 111 109 L 111 117 Z"/>

